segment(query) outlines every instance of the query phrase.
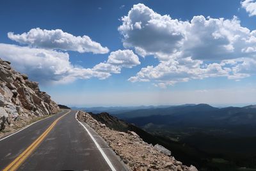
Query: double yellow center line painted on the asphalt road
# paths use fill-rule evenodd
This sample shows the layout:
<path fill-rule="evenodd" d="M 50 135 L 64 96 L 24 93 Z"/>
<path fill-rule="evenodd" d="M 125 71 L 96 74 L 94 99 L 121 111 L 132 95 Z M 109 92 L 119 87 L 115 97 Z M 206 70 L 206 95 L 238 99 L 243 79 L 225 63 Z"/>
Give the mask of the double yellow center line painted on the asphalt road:
<path fill-rule="evenodd" d="M 42 133 L 42 135 L 40 135 L 40 137 L 38 137 L 31 145 L 29 145 L 29 147 L 25 151 L 23 151 L 17 158 L 15 158 L 15 160 L 13 160 L 12 163 L 10 163 L 6 168 L 4 168 L 4 171 L 17 170 L 17 168 L 20 167 L 20 165 L 28 158 L 28 156 L 36 149 L 36 147 L 38 147 L 38 145 L 44 140 L 44 138 L 48 135 L 48 133 L 52 130 L 52 128 L 54 128 L 56 123 L 58 123 L 58 121 L 60 121 L 61 117 L 67 115 L 69 112 L 71 112 L 71 110 L 68 111 L 66 114 L 58 117 L 58 119 L 56 119 L 51 124 L 51 126 L 49 126 L 49 128 L 47 128 L 47 130 L 45 130 L 44 133 Z"/>

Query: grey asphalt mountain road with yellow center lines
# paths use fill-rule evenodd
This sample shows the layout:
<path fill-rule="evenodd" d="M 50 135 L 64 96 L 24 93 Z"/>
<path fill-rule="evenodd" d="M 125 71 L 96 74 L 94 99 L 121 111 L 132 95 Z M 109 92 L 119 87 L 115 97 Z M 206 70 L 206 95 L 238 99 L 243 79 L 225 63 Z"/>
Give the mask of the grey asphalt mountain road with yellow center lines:
<path fill-rule="evenodd" d="M 91 134 L 100 149 L 76 111 L 65 110 L 0 140 L 0 170 L 127 170 L 102 138 Z"/>

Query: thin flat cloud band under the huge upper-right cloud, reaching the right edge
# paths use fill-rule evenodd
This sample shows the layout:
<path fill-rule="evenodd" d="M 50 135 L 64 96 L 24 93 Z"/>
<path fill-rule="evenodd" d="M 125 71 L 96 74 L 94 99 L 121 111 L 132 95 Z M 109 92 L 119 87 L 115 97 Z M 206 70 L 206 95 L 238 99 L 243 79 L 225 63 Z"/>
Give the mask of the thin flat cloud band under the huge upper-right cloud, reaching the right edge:
<path fill-rule="evenodd" d="M 210 77 L 227 77 L 237 80 L 250 77 L 256 73 L 255 59 L 228 60 L 221 63 L 204 64 L 200 60 L 193 60 L 190 57 L 185 59 L 162 61 L 157 66 L 147 66 L 133 77 L 131 82 L 154 82 L 157 87 L 165 88 L 178 82 L 188 82 L 193 79 Z"/>

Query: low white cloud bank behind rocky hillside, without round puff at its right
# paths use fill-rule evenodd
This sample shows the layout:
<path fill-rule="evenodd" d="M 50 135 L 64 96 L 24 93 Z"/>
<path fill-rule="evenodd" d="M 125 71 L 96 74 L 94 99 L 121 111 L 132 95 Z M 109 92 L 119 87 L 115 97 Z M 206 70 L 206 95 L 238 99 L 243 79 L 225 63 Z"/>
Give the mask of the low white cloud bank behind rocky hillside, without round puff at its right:
<path fill-rule="evenodd" d="M 67 52 L 0 43 L 0 55 L 17 71 L 27 73 L 31 80 L 42 84 L 65 84 L 92 77 L 104 79 L 111 75 L 108 71 L 73 66 Z"/>

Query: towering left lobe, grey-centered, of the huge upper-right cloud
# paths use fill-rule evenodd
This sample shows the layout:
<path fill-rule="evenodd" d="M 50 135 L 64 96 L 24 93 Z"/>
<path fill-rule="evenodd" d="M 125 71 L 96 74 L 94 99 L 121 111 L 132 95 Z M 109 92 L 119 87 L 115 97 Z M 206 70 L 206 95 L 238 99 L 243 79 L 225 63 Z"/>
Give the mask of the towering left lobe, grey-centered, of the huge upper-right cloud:
<path fill-rule="evenodd" d="M 124 36 L 124 47 L 136 47 L 147 54 L 172 53 L 184 38 L 183 22 L 161 16 L 144 4 L 136 4 L 122 18 L 118 31 Z"/>

